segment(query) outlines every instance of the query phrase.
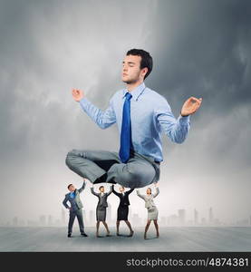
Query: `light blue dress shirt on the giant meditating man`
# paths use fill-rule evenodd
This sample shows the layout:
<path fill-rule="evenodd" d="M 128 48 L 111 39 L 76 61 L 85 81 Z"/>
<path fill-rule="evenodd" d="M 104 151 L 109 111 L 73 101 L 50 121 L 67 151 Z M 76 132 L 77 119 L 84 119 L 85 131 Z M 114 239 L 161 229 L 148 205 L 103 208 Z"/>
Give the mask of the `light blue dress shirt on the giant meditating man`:
<path fill-rule="evenodd" d="M 82 110 L 86 112 L 101 129 L 110 127 L 117 122 L 121 135 L 123 103 L 127 89 L 115 92 L 110 100 L 109 107 L 101 111 L 86 97 L 80 101 Z M 168 135 L 171 141 L 182 143 L 190 129 L 188 116 L 176 119 L 171 112 L 169 103 L 158 92 L 150 90 L 145 83 L 141 83 L 131 92 L 130 121 L 131 140 L 134 151 L 162 161 L 161 133 Z"/>

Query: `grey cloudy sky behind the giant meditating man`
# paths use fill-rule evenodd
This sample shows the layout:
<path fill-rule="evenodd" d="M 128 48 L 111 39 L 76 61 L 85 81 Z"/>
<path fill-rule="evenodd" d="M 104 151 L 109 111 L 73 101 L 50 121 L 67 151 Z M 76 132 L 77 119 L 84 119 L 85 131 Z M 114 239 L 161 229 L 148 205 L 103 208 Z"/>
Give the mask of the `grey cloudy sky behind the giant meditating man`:
<path fill-rule="evenodd" d="M 1 1 L 1 219 L 57 216 L 66 185 L 82 180 L 64 164 L 72 148 L 118 151 L 116 126 L 99 129 L 71 88 L 101 109 L 123 88 L 130 48 L 151 53 L 147 86 L 178 117 L 203 97 L 182 145 L 163 135 L 159 215 L 198 209 L 227 220 L 251 214 L 250 1 Z M 143 191 L 144 189 L 142 189 Z M 87 210 L 96 199 L 82 195 Z M 115 213 L 118 199 L 110 197 Z M 137 196 L 131 209 L 146 211 Z"/>

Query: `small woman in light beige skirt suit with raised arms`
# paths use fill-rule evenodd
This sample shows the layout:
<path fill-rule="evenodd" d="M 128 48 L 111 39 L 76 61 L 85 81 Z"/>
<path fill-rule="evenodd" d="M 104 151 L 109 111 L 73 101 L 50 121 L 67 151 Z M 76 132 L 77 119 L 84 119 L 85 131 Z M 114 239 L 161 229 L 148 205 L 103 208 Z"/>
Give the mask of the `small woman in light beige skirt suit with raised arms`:
<path fill-rule="evenodd" d="M 156 192 L 154 194 L 151 193 L 151 189 L 148 188 L 147 189 L 147 194 L 146 195 L 141 195 L 140 194 L 140 190 L 137 189 L 137 195 L 141 198 L 145 200 L 145 207 L 148 209 L 148 221 L 147 221 L 147 225 L 145 228 L 145 233 L 144 233 L 144 238 L 147 238 L 147 231 L 150 227 L 150 222 L 151 220 L 153 220 L 154 222 L 154 226 L 156 228 L 156 232 L 157 232 L 157 238 L 159 238 L 159 226 L 157 223 L 158 220 L 158 209 L 155 206 L 155 203 L 153 201 L 154 198 L 156 198 L 159 195 L 159 188 L 157 187 L 157 183 L 154 183 L 155 188 L 156 188 Z"/>

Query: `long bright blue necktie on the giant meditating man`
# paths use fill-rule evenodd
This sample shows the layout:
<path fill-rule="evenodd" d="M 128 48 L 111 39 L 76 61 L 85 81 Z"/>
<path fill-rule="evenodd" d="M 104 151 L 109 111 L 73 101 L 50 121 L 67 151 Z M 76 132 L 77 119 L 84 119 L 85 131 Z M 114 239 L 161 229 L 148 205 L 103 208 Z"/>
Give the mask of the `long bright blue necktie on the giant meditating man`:
<path fill-rule="evenodd" d="M 131 143 L 131 131 L 130 131 L 130 98 L 132 95 L 130 92 L 126 93 L 126 99 L 123 106 L 123 117 L 121 126 L 121 150 L 120 158 L 125 163 L 130 158 Z"/>

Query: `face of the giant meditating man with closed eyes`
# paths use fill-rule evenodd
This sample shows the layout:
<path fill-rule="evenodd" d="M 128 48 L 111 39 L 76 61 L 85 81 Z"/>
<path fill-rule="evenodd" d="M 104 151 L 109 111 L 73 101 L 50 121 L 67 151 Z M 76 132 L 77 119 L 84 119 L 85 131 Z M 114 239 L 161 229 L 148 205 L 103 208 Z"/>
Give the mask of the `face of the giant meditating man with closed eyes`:
<path fill-rule="evenodd" d="M 124 83 L 136 83 L 144 79 L 148 68 L 140 69 L 140 55 L 126 55 L 122 62 L 121 79 Z"/>

